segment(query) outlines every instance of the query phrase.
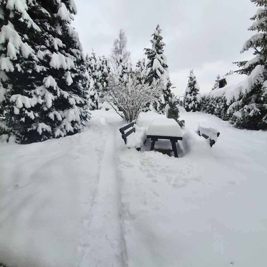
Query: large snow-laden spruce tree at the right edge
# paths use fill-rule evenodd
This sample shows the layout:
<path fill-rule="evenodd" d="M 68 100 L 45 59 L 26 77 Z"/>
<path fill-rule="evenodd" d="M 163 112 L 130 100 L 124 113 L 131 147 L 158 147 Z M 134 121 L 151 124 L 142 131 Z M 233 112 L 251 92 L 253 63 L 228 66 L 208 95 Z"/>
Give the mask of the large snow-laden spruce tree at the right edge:
<path fill-rule="evenodd" d="M 242 87 L 240 100 L 228 109 L 233 112 L 232 123 L 237 128 L 267 129 L 267 1 L 252 0 L 260 8 L 250 18 L 254 21 L 249 31 L 257 31 L 247 40 L 241 53 L 254 49 L 255 58 L 249 61 L 235 62 L 242 67 L 237 72 L 248 77 Z"/>

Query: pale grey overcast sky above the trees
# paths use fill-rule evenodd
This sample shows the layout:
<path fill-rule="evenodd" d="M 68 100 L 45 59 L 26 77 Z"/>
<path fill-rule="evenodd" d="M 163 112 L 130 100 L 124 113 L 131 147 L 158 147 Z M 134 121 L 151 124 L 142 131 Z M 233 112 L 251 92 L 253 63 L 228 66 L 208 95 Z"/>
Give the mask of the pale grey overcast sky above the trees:
<path fill-rule="evenodd" d="M 257 10 L 249 0 L 75 0 L 78 14 L 73 26 L 85 53 L 92 47 L 97 55 L 109 55 L 120 28 L 128 37 L 131 61 L 144 57 L 151 47 L 150 36 L 157 24 L 166 43 L 165 55 L 171 82 L 181 95 L 190 69 L 200 85 L 209 91 L 217 74 L 230 69 L 231 62 L 252 58 L 252 51 L 240 54 L 243 43 L 253 34 L 247 31 Z"/>

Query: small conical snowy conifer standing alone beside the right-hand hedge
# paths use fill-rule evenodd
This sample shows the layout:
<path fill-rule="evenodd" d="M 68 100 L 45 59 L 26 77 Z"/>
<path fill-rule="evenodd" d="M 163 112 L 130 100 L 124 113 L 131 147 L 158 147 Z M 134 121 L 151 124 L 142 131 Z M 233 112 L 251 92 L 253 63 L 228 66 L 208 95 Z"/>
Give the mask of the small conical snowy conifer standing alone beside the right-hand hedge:
<path fill-rule="evenodd" d="M 195 112 L 200 109 L 198 93 L 199 85 L 196 76 L 193 74 L 193 70 L 190 70 L 188 84 L 184 94 L 184 107 L 187 112 Z"/>

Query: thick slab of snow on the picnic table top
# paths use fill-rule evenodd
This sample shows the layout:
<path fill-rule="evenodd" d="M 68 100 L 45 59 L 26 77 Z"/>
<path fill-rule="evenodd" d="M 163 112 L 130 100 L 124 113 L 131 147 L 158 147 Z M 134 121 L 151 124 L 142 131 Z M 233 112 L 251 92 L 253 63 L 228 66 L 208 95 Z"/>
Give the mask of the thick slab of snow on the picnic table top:
<path fill-rule="evenodd" d="M 156 118 L 148 127 L 147 135 L 182 137 L 182 130 L 174 119 Z"/>

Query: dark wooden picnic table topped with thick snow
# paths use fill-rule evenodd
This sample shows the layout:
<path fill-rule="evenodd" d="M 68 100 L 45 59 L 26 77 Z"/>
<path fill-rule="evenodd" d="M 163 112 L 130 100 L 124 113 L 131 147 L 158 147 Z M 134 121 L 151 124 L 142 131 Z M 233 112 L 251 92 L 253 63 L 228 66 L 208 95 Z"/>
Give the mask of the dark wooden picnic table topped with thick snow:
<path fill-rule="evenodd" d="M 147 138 L 152 141 L 150 151 L 154 149 L 158 139 L 169 139 L 175 158 L 178 158 L 176 142 L 182 140 L 182 136 L 181 127 L 174 119 L 156 118 L 152 120 L 147 131 Z"/>

